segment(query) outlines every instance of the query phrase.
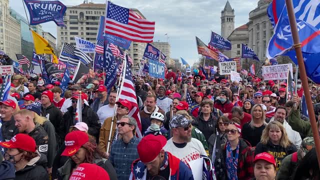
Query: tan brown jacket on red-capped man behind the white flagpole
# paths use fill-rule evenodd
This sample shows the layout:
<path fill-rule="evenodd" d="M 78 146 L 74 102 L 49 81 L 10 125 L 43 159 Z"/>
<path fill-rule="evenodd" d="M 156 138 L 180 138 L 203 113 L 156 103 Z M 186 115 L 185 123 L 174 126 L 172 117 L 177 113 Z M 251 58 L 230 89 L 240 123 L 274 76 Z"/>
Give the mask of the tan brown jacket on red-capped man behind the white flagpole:
<path fill-rule="evenodd" d="M 104 120 L 101 128 L 100 128 L 100 135 L 99 135 L 99 144 L 98 144 L 98 148 L 102 151 L 102 152 L 106 152 L 106 145 L 108 144 L 108 138 L 109 138 L 109 133 L 110 133 L 110 127 L 111 127 L 111 121 L 112 121 L 112 117 L 108 117 Z M 113 118 L 113 124 L 112 124 L 112 132 L 111 132 L 111 139 L 110 141 L 112 141 L 115 129 L 116 129 L 116 116 L 114 116 Z M 110 143 L 111 146 L 111 143 Z"/>

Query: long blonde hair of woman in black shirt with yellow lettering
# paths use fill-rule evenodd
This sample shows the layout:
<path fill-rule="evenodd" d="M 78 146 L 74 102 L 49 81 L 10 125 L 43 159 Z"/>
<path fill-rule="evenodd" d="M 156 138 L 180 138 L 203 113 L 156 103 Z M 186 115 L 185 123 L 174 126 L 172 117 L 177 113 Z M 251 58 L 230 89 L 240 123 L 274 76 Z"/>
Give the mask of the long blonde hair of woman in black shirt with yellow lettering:
<path fill-rule="evenodd" d="M 289 140 L 288 138 L 288 134 L 286 133 L 283 125 L 279 122 L 279 121 L 271 121 L 269 122 L 266 127 L 263 129 L 262 131 L 262 135 L 261 135 L 261 143 L 262 144 L 267 144 L 268 141 L 270 140 L 269 137 L 269 130 L 270 129 L 280 129 L 281 131 L 281 138 L 280 138 L 280 145 L 284 148 L 289 147 L 292 142 Z"/>

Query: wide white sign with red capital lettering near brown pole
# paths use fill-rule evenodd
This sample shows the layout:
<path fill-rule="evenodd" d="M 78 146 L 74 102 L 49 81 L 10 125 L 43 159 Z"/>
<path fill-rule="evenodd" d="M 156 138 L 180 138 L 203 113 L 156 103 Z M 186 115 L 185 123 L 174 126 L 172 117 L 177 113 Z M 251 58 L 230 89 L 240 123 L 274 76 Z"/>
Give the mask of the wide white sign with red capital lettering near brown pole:
<path fill-rule="evenodd" d="M 290 70 L 291 78 L 293 78 L 292 64 L 262 66 L 263 79 L 264 80 L 287 79 L 288 70 Z"/>

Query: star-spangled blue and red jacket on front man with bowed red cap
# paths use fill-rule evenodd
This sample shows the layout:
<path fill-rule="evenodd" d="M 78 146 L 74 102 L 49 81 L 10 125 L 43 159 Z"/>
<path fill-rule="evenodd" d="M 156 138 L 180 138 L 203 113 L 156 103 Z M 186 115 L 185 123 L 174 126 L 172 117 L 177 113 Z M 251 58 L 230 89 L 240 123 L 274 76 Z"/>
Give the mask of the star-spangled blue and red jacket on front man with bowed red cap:
<path fill-rule="evenodd" d="M 180 159 L 172 155 L 170 152 L 168 154 L 168 163 L 170 167 L 170 180 L 193 180 L 192 171 L 187 167 Z M 138 169 L 138 170 L 137 170 Z M 146 166 L 140 159 L 136 159 L 131 164 L 131 174 L 129 179 L 145 179 L 146 178 Z"/>

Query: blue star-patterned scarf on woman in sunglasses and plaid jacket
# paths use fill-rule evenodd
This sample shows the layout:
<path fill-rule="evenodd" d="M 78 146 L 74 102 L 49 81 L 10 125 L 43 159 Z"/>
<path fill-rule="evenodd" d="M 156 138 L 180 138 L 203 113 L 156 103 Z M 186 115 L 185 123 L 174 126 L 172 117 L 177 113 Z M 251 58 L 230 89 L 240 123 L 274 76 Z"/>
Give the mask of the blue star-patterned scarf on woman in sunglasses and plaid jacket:
<path fill-rule="evenodd" d="M 226 168 L 227 168 L 227 176 L 229 180 L 237 180 L 237 174 L 236 174 L 236 170 L 237 170 L 237 164 L 238 164 L 238 156 L 239 156 L 239 143 L 236 146 L 235 149 L 235 157 L 233 157 L 232 154 L 232 148 L 230 145 L 230 142 L 227 141 L 226 142 L 226 159 L 225 159 L 225 163 L 226 163 Z"/>

